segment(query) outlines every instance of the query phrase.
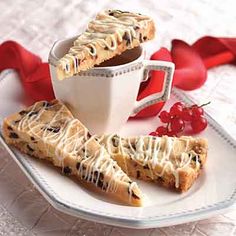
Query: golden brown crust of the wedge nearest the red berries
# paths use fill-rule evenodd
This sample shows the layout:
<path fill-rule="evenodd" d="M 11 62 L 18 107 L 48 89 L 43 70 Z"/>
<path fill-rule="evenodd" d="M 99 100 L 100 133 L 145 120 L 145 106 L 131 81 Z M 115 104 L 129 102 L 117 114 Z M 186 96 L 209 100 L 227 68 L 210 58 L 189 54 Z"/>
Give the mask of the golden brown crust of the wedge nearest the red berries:
<path fill-rule="evenodd" d="M 123 138 L 122 140 L 124 147 L 127 148 L 127 139 Z M 155 173 L 162 173 L 163 169 L 165 168 L 163 165 L 151 167 L 151 165 L 144 164 L 140 160 L 137 161 L 134 157 L 131 158 L 131 153 L 127 151 L 127 149 L 121 154 L 118 153 L 117 149 L 113 148 L 110 154 L 112 158 L 117 161 L 118 165 L 123 169 L 123 171 L 127 173 L 127 175 L 145 181 L 155 181 L 164 187 L 175 189 L 179 192 L 185 192 L 194 184 L 195 180 L 200 175 L 201 170 L 206 162 L 208 149 L 206 139 L 181 137 L 179 142 L 178 139 L 176 142 L 176 145 L 178 146 L 177 148 L 179 149 L 176 150 L 176 156 L 170 158 L 172 164 L 176 165 L 175 160 L 176 158 L 177 160 L 180 158 L 181 153 L 185 149 L 185 146 L 182 144 L 183 141 L 185 142 L 186 140 L 188 140 L 188 150 L 185 151 L 187 151 L 187 153 L 194 153 L 194 155 L 191 157 L 190 163 L 183 168 L 178 168 L 177 166 L 176 169 L 178 170 L 176 171 L 171 170 L 167 166 L 161 175 L 157 175 Z M 101 143 L 103 143 L 105 147 L 108 145 L 106 138 L 102 139 Z M 116 144 L 116 146 L 118 146 L 118 144 Z"/>

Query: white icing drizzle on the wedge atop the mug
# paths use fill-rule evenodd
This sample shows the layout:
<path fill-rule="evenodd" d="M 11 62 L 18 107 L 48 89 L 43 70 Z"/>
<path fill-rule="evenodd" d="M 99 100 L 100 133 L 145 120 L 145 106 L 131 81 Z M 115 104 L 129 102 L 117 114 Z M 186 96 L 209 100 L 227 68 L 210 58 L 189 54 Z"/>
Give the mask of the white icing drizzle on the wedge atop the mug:
<path fill-rule="evenodd" d="M 127 45 L 132 48 L 133 38 L 138 38 L 140 34 L 135 29 L 147 27 L 147 22 L 150 20 L 149 17 L 136 13 L 119 10 L 104 11 L 98 14 L 95 20 L 89 22 L 86 31 L 78 36 L 69 52 L 59 60 L 59 65 L 66 74 L 70 74 L 72 69 L 77 73 L 80 61 L 85 57 L 84 51 L 96 57 L 96 45 L 114 51 L 117 49 L 118 42 L 124 38 L 127 40 Z M 73 68 L 70 68 L 71 62 Z"/>

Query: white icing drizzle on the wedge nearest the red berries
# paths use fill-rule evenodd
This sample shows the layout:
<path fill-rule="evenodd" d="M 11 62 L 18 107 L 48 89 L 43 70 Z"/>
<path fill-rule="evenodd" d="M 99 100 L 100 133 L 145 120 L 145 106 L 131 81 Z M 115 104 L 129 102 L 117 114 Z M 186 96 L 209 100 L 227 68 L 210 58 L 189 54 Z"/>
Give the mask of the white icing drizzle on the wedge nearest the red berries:
<path fill-rule="evenodd" d="M 119 145 L 114 148 L 112 140 L 119 140 Z M 193 156 L 196 158 L 195 168 L 200 168 L 198 156 L 194 151 L 189 151 L 189 138 L 172 137 L 152 137 L 139 136 L 136 138 L 121 138 L 117 135 L 102 136 L 99 139 L 100 143 L 105 140 L 105 147 L 111 155 L 121 154 L 129 156 L 139 165 L 149 169 L 151 179 L 155 176 L 162 177 L 168 170 L 175 177 L 175 187 L 179 187 L 179 171 L 191 164 Z M 184 145 L 184 150 L 179 153 L 178 143 Z M 126 159 L 126 158 L 124 158 Z M 161 172 L 156 171 L 156 167 L 161 167 Z M 127 167 L 126 167 L 127 168 Z"/>

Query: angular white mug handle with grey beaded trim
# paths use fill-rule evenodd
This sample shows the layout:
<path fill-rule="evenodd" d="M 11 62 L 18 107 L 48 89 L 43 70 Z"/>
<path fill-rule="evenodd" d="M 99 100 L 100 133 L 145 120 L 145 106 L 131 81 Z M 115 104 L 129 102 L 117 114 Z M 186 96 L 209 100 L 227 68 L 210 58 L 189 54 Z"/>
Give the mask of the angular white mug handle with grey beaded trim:
<path fill-rule="evenodd" d="M 135 116 L 144 108 L 149 107 L 157 102 L 166 101 L 170 97 L 175 64 L 167 61 L 143 60 L 143 66 L 144 66 L 144 73 L 141 82 L 144 82 L 148 79 L 149 71 L 159 70 L 165 72 L 164 83 L 161 92 L 151 94 L 140 101 L 136 101 L 131 116 Z"/>

